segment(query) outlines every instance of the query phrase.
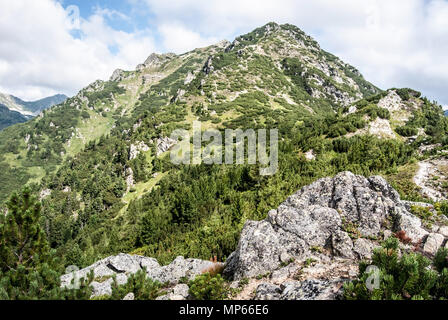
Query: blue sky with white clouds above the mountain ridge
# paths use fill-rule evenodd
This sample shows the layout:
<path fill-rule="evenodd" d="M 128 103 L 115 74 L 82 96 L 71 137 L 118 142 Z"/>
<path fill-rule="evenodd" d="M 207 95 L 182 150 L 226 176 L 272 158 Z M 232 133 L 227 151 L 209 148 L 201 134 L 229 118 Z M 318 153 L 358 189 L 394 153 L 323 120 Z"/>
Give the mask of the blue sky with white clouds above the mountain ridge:
<path fill-rule="evenodd" d="M 382 89 L 448 108 L 448 0 L 0 0 L 0 92 L 75 95 L 152 52 L 291 23 Z"/>

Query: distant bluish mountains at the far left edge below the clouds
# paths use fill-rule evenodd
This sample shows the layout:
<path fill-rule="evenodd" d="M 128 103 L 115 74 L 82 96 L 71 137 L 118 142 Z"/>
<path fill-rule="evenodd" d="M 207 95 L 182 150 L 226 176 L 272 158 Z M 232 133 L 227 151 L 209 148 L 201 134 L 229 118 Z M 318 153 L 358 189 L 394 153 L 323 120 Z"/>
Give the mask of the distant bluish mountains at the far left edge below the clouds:
<path fill-rule="evenodd" d="M 9 94 L 0 93 L 0 130 L 25 122 L 45 109 L 64 102 L 68 97 L 57 94 L 37 101 L 24 101 Z"/>

